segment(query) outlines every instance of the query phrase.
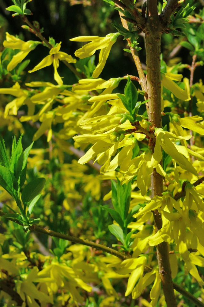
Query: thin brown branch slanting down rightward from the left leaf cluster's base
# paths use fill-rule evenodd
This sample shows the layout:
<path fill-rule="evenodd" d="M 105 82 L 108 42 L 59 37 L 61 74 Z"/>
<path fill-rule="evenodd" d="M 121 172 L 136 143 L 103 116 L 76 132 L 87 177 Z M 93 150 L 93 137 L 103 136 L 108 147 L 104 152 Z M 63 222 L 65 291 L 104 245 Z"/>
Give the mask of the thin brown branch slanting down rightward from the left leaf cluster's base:
<path fill-rule="evenodd" d="M 59 232 L 48 230 L 48 229 L 44 229 L 44 228 L 41 228 L 41 227 L 36 226 L 36 225 L 32 225 L 31 227 L 29 227 L 29 229 L 31 231 L 40 232 L 40 233 L 43 233 L 45 235 L 50 235 L 50 236 L 55 237 L 55 238 L 60 238 L 60 239 L 63 239 L 63 240 L 68 240 L 68 241 L 74 242 L 74 243 L 79 243 L 79 244 L 87 245 L 87 246 L 90 246 L 92 248 L 96 248 L 99 251 L 105 251 L 108 254 L 115 255 L 118 258 L 122 259 L 122 260 L 130 259 L 131 258 L 128 255 L 120 253 L 119 251 L 116 251 L 113 248 L 104 246 L 102 244 L 98 244 L 98 243 L 95 243 L 95 242 L 91 242 L 91 241 L 87 241 L 87 240 L 84 240 L 84 239 L 76 238 L 76 237 L 73 237 L 71 235 L 64 235 L 64 234 L 61 234 Z"/>

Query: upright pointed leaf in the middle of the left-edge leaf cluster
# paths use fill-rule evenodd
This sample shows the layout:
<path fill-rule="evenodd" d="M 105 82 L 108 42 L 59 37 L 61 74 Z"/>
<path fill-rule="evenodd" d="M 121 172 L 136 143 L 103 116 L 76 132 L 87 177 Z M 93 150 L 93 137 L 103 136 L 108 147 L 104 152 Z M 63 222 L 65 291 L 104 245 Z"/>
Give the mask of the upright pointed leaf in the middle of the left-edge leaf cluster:
<path fill-rule="evenodd" d="M 12 156 L 10 160 L 9 169 L 18 180 L 23 166 L 23 147 L 21 144 L 22 134 L 15 146 L 15 140 L 12 146 Z"/>

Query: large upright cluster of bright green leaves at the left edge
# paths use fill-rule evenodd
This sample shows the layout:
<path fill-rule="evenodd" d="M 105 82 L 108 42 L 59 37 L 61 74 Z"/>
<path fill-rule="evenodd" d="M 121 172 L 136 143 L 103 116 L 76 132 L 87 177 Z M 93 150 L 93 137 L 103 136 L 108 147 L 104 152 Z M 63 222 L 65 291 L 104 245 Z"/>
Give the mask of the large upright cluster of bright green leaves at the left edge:
<path fill-rule="evenodd" d="M 39 223 L 40 221 L 40 219 L 30 219 L 29 217 L 34 205 L 41 196 L 40 192 L 44 187 L 45 179 L 34 179 L 23 188 L 26 180 L 27 159 L 33 143 L 23 151 L 21 139 L 22 135 L 16 143 L 16 138 L 14 137 L 12 154 L 9 159 L 4 140 L 0 136 L 0 185 L 13 197 L 21 212 L 21 214 L 19 214 L 6 205 L 13 213 L 8 213 L 4 215 L 4 217 L 22 225 L 29 225 L 32 223 Z M 22 191 L 21 197 L 20 191 Z M 26 212 L 27 207 L 28 210 Z"/>

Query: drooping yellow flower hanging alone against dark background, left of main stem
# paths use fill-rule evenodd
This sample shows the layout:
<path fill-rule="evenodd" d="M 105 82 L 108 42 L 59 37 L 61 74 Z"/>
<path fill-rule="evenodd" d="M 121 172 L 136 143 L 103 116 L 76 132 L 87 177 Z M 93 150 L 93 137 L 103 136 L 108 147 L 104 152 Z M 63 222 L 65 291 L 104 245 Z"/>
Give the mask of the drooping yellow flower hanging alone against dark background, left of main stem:
<path fill-rule="evenodd" d="M 108 59 L 108 55 L 111 51 L 112 45 L 116 42 L 119 33 L 110 33 L 105 37 L 99 36 L 79 36 L 71 38 L 70 41 L 90 41 L 90 43 L 84 45 L 82 48 L 77 49 L 75 51 L 75 56 L 79 57 L 80 59 L 84 59 L 88 56 L 92 56 L 96 50 L 100 50 L 99 54 L 99 62 L 93 72 L 93 78 L 98 78 L 100 73 L 102 72 L 106 60 Z"/>

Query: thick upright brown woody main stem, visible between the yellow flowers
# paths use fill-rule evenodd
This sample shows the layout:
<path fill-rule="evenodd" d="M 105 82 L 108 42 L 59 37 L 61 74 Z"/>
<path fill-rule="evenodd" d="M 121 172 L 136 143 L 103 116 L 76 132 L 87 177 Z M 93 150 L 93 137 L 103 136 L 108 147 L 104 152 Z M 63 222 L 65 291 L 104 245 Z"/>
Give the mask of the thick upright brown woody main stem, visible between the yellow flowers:
<path fill-rule="evenodd" d="M 147 0 L 147 16 L 145 41 L 149 121 L 152 126 L 161 128 L 160 54 L 162 26 L 158 18 L 157 0 Z M 151 185 L 152 197 L 156 195 L 161 196 L 161 193 L 163 192 L 163 177 L 157 173 L 156 169 L 153 169 L 151 175 Z M 155 227 L 158 231 L 162 228 L 161 214 L 158 210 L 154 210 L 153 216 Z M 157 259 L 167 307 L 177 307 L 169 262 L 168 243 L 162 242 L 157 245 Z"/>

